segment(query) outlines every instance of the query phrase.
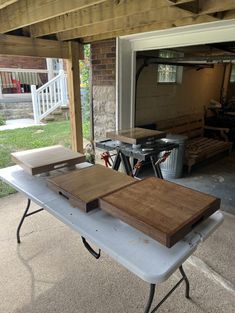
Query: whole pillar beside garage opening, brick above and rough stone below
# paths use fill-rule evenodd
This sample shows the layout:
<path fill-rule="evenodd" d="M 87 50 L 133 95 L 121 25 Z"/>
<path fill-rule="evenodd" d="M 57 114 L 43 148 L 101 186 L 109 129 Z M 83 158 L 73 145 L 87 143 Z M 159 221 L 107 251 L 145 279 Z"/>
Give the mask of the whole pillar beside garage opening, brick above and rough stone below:
<path fill-rule="evenodd" d="M 116 130 L 116 38 L 91 43 L 91 69 L 94 140 L 100 141 Z M 95 148 L 96 164 L 104 165 L 102 152 Z"/>

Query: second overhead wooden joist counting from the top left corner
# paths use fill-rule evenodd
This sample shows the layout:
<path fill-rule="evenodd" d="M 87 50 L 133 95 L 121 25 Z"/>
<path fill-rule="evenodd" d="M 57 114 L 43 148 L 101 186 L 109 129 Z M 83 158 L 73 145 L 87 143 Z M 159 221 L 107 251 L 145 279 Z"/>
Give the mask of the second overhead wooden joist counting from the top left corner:
<path fill-rule="evenodd" d="M 44 36 L 51 33 L 58 33 L 65 30 L 91 25 L 113 18 L 125 17 L 151 9 L 169 7 L 169 2 L 165 0 L 135 0 L 114 2 L 108 0 L 96 5 L 92 5 L 86 10 L 80 9 L 66 13 L 48 20 L 29 25 L 31 37 Z"/>

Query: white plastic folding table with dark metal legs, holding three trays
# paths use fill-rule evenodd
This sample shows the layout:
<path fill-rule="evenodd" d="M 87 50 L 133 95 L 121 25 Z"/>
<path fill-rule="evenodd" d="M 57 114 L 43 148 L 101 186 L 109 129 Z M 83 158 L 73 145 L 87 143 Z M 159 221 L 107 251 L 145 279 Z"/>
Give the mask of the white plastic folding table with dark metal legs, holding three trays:
<path fill-rule="evenodd" d="M 85 162 L 76 167 L 82 168 L 90 165 Z M 178 268 L 182 278 L 151 313 L 158 309 L 183 280 L 186 284 L 185 297 L 188 298 L 189 282 L 182 264 L 197 249 L 197 245 L 204 242 L 223 223 L 222 213 L 217 211 L 168 249 L 101 209 L 97 208 L 85 213 L 79 208 L 74 208 L 66 199 L 46 187 L 45 179 L 65 172 L 68 171 L 60 169 L 51 172 L 50 176 L 39 177 L 31 176 L 18 165 L 0 169 L 0 179 L 28 198 L 28 205 L 17 229 L 18 243 L 24 218 L 44 209 L 80 234 L 86 249 L 97 259 L 102 250 L 135 275 L 150 283 L 149 299 L 144 313 L 150 311 L 155 285 L 165 282 Z M 41 206 L 41 209 L 27 213 L 31 200 Z M 96 253 L 86 240 L 96 245 L 99 253 Z"/>

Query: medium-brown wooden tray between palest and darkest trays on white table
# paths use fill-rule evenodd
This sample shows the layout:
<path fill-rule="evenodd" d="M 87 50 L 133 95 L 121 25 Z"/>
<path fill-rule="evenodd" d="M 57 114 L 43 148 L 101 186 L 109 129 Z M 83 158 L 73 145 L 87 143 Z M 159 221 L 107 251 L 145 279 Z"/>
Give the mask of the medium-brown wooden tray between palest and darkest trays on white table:
<path fill-rule="evenodd" d="M 46 180 L 46 186 L 85 212 L 98 208 L 98 198 L 137 179 L 102 165 L 93 165 Z"/>

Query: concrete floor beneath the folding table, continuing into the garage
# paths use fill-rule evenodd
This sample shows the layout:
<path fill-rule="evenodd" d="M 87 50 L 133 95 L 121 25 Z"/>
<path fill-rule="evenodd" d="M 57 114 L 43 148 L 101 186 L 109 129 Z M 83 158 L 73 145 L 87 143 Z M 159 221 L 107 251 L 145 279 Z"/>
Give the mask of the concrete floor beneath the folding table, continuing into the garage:
<path fill-rule="evenodd" d="M 191 299 L 185 299 L 185 286 L 181 284 L 157 312 L 234 312 L 235 216 L 227 213 L 235 213 L 232 161 L 234 153 L 215 159 L 213 164 L 192 167 L 191 176 L 185 174 L 177 180 L 222 197 L 225 221 L 183 264 Z M 224 181 L 220 182 L 220 176 Z M 104 253 L 96 260 L 83 246 L 81 237 L 48 212 L 25 219 L 21 243 L 17 244 L 16 229 L 26 204 L 27 199 L 20 193 L 0 199 L 1 313 L 144 311 L 149 284 Z M 30 210 L 38 208 L 32 203 Z M 164 284 L 156 286 L 155 305 L 178 279 L 177 270 Z"/>

